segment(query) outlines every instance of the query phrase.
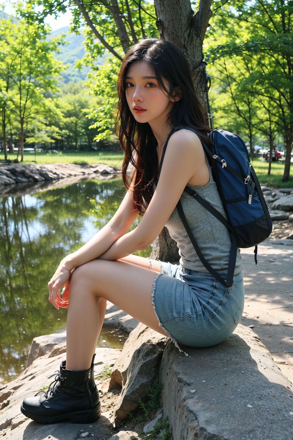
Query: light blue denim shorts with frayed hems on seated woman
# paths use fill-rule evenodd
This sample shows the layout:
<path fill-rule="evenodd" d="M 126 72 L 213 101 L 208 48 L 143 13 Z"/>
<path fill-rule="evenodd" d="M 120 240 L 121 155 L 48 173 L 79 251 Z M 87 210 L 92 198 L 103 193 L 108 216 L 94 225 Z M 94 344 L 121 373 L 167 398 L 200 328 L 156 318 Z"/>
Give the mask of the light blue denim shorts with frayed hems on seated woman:
<path fill-rule="evenodd" d="M 159 325 L 175 345 L 210 347 L 227 339 L 244 308 L 242 273 L 234 276 L 232 287 L 226 288 L 209 272 L 160 264 L 161 273 L 153 282 L 152 304 Z"/>

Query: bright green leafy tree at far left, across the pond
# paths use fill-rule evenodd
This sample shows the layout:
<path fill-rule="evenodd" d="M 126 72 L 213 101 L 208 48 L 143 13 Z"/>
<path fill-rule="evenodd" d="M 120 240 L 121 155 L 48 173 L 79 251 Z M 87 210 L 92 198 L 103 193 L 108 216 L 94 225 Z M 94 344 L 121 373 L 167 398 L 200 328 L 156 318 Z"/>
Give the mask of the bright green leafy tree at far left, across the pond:
<path fill-rule="evenodd" d="M 22 161 L 25 126 L 38 115 L 47 113 L 46 92 L 54 89 L 62 68 L 62 63 L 53 57 L 61 39 L 49 42 L 46 40 L 48 33 L 48 29 L 33 23 L 1 22 L 0 71 L 7 77 L 6 84 L 9 81 L 12 87 L 11 111 L 18 117 L 18 153 Z"/>

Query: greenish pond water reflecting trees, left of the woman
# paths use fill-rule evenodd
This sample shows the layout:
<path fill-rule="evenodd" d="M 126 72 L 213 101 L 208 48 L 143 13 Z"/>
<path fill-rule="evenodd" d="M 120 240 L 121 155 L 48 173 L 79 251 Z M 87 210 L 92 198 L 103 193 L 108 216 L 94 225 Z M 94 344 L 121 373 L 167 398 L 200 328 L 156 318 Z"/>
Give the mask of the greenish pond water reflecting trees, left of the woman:
<path fill-rule="evenodd" d="M 47 283 L 61 259 L 110 220 L 124 194 L 116 179 L 0 198 L 0 385 L 26 367 L 34 337 L 65 330 L 67 311 L 47 301 Z M 102 330 L 98 346 L 122 348 L 119 333 Z"/>

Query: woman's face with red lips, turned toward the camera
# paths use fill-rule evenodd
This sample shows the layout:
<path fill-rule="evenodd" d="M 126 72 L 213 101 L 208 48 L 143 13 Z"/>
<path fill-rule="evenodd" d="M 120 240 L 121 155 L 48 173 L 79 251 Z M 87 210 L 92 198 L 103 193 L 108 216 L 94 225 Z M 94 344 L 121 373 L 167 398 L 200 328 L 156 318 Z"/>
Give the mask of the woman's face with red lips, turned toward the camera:
<path fill-rule="evenodd" d="M 166 95 L 156 79 L 152 68 L 145 61 L 130 64 L 126 83 L 126 99 L 130 111 L 137 122 L 145 123 L 151 128 L 162 127 L 174 105 L 174 99 Z M 169 84 L 164 81 L 169 90 Z"/>

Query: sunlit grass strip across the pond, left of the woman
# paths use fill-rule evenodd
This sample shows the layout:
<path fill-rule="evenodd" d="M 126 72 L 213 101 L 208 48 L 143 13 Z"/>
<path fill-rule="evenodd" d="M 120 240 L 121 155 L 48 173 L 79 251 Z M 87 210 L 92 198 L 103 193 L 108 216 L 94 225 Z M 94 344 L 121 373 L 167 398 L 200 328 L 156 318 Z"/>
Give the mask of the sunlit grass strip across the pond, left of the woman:
<path fill-rule="evenodd" d="M 14 160 L 17 154 L 7 154 L 7 158 Z M 96 152 L 96 151 L 78 151 L 78 152 L 65 152 L 59 153 L 36 153 L 36 163 L 38 164 L 76 164 L 76 165 L 96 165 L 99 163 L 106 165 L 113 165 L 116 167 L 122 166 L 124 154 L 114 151 Z M 0 154 L 2 159 L 2 154 Z M 35 154 L 24 151 L 23 161 L 33 162 L 35 160 Z"/>

